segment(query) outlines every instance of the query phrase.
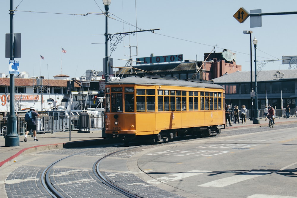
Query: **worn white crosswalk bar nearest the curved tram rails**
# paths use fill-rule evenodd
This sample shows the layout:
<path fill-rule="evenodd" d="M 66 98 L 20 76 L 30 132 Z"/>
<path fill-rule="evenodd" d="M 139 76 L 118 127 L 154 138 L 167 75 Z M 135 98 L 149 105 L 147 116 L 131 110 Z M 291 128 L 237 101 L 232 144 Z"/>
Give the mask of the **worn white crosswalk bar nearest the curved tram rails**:
<path fill-rule="evenodd" d="M 208 171 L 208 170 L 191 170 L 191 171 L 188 171 L 188 172 L 181 172 L 181 173 L 176 173 L 176 174 L 173 174 L 173 175 L 169 175 L 171 177 L 161 177 L 161 178 L 157 178 L 157 179 L 154 179 L 154 180 L 149 180 L 147 181 L 148 183 L 151 183 L 151 184 L 159 184 L 159 183 L 167 183 L 167 182 L 170 182 L 170 181 L 175 181 L 175 180 L 180 180 L 180 179 L 183 179 L 183 178 L 187 178 L 187 177 L 191 177 L 191 176 L 194 176 L 194 175 L 200 175 L 200 174 L 203 174 L 203 173 L 206 173 L 206 172 L 212 172 L 212 171 Z"/>

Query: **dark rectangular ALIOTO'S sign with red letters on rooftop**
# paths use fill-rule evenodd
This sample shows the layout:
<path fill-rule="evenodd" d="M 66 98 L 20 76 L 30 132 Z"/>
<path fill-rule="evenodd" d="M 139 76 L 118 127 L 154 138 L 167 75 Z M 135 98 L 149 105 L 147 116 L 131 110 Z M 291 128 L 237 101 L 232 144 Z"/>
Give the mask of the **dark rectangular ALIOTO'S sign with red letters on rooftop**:
<path fill-rule="evenodd" d="M 141 61 L 141 62 L 136 62 L 137 65 L 183 61 L 183 55 L 178 54 L 178 55 L 168 55 L 168 56 L 152 56 L 152 57 L 136 58 L 136 61 Z"/>

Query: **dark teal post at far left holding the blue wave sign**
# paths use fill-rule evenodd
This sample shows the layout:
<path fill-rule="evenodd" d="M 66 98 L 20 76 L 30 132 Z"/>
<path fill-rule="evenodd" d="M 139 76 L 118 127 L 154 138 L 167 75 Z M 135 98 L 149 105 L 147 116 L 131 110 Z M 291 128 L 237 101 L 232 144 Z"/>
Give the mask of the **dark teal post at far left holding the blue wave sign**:
<path fill-rule="evenodd" d="M 13 45 L 13 0 L 10 0 L 10 60 L 14 60 Z M 20 139 L 17 132 L 17 117 L 15 115 L 15 75 L 10 74 L 10 113 L 8 116 L 7 136 L 5 146 L 19 146 Z"/>

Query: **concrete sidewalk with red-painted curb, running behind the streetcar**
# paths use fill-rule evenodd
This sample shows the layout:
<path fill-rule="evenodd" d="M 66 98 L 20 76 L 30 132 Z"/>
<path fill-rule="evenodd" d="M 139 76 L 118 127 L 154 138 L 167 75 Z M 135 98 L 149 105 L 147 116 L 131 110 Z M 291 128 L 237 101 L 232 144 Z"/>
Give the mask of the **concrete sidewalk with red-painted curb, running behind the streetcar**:
<path fill-rule="evenodd" d="M 284 124 L 296 124 L 297 126 L 297 118 L 294 116 L 291 116 L 289 119 L 276 118 L 275 124 L 276 126 Z M 228 129 L 268 126 L 268 120 L 265 121 L 265 119 L 262 118 L 260 119 L 260 124 L 253 124 L 253 121 L 250 120 L 247 120 L 246 124 L 233 124 L 233 122 L 231 122 L 231 125 L 232 126 L 229 126 L 228 123 L 226 129 L 222 129 L 222 133 L 224 133 L 224 131 L 227 131 Z M 70 134 L 70 138 L 69 131 L 55 132 L 53 134 L 37 134 L 37 139 L 39 141 L 33 141 L 33 137 L 31 135 L 28 135 L 28 142 L 24 142 L 24 137 L 24 135 L 20 136 L 20 146 L 6 147 L 5 139 L 3 138 L 3 136 L 0 136 L 0 167 L 13 163 L 13 161 L 16 161 L 20 156 L 26 153 L 57 148 L 91 146 L 109 142 L 109 140 L 107 140 L 106 138 L 102 138 L 102 131 L 90 131 L 86 133 L 78 133 L 78 131 L 72 131 Z"/>

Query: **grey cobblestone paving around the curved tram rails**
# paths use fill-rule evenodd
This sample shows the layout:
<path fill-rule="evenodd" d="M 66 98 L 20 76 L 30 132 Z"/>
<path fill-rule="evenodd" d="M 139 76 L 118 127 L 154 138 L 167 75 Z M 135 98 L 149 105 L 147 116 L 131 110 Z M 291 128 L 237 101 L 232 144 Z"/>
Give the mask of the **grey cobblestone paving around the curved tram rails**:
<path fill-rule="evenodd" d="M 157 145 L 149 145 L 154 147 Z M 40 179 L 41 173 L 45 169 L 45 165 L 35 166 L 37 161 L 42 161 L 44 164 L 56 159 L 61 159 L 65 156 L 77 154 L 58 162 L 50 172 L 50 180 L 52 185 L 61 192 L 65 197 L 125 197 L 119 192 L 108 188 L 99 181 L 92 171 L 92 166 L 97 159 L 105 156 L 108 153 L 119 151 L 125 148 L 121 147 L 106 147 L 106 148 L 80 148 L 80 149 L 58 149 L 52 151 L 43 151 L 34 153 L 32 160 L 23 166 L 17 167 L 13 170 L 5 180 L 5 191 L 7 197 L 51 197 L 50 194 L 43 188 Z M 133 151 L 124 151 L 112 156 L 113 160 L 120 161 L 116 169 L 123 166 L 124 171 L 107 172 L 102 171 L 111 182 L 118 186 L 138 194 L 140 197 L 181 197 L 177 194 L 162 190 L 148 184 L 135 176 L 133 173 L 127 171 L 124 161 L 128 160 L 130 156 L 144 148 L 135 148 Z M 51 158 L 51 156 L 55 156 Z M 60 157 L 59 157 L 60 156 Z M 124 161 L 123 161 L 124 159 Z M 113 168 L 110 167 L 110 170 Z"/>

